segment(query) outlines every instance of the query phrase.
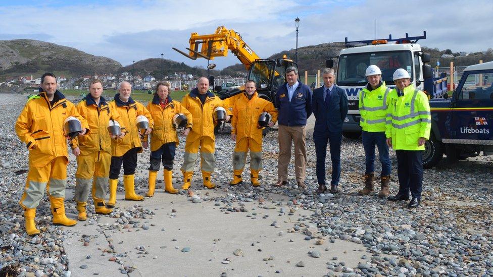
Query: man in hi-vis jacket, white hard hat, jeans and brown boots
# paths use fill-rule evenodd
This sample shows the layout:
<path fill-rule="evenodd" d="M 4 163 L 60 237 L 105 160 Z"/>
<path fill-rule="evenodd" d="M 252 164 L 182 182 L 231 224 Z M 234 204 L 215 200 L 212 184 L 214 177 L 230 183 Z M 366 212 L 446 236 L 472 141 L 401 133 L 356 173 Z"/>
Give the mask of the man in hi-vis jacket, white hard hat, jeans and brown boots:
<path fill-rule="evenodd" d="M 378 147 L 382 171 L 380 174 L 381 190 L 378 196 L 388 196 L 390 181 L 390 157 L 385 138 L 385 118 L 390 102 L 389 89 L 382 82 L 380 68 L 371 65 L 366 69 L 368 84 L 360 92 L 359 109 L 361 114 L 360 126 L 363 129 L 362 142 L 365 149 L 365 188 L 359 191 L 360 195 L 368 195 L 373 191 L 375 170 L 375 145 Z"/>

